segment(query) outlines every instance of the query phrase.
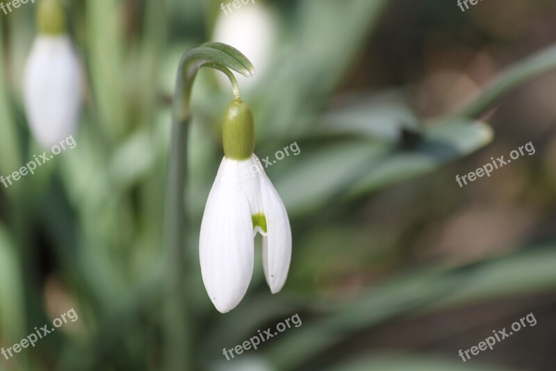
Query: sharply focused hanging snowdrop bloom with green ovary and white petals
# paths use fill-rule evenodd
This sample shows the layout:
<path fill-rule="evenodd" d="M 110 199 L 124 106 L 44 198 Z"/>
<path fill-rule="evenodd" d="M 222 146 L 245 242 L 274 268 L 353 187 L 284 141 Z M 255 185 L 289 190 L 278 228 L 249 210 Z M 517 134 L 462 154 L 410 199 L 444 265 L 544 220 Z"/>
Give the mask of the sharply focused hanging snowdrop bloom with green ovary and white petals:
<path fill-rule="evenodd" d="M 222 132 L 224 158 L 208 195 L 199 238 L 204 286 L 216 309 L 227 313 L 251 281 L 254 236 L 263 235 L 263 269 L 270 291 L 281 290 L 291 259 L 291 228 L 274 186 L 253 154 L 252 112 L 231 102 Z"/>

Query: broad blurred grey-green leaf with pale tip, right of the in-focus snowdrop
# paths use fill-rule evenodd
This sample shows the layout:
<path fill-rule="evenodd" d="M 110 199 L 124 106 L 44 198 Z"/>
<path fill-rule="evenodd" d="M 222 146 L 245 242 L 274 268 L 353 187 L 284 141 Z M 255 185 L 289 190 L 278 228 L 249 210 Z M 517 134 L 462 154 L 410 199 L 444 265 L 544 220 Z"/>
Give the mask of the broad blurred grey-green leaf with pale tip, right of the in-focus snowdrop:
<path fill-rule="evenodd" d="M 405 150 L 398 144 L 402 126 L 398 124 L 395 130 L 391 127 L 396 127 L 395 122 L 386 118 L 368 127 L 354 124 L 347 127 L 346 134 L 367 132 L 384 141 L 352 139 L 303 150 L 275 184 L 288 211 L 314 210 L 332 198 L 360 196 L 423 175 L 469 155 L 492 139 L 492 130 L 485 123 L 455 120 L 448 125 L 425 127 L 420 141 Z M 398 141 L 393 141 L 395 132 Z"/>

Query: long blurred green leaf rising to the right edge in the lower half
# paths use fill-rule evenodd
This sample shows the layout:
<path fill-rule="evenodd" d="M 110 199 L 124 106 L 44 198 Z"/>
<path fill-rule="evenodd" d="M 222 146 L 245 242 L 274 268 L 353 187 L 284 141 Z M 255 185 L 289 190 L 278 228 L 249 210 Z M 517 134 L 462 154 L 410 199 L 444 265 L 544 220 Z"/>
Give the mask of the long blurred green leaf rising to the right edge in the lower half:
<path fill-rule="evenodd" d="M 277 339 L 268 356 L 280 369 L 293 368 L 353 333 L 402 315 L 554 290 L 555 265 L 556 244 L 551 244 L 464 267 L 409 272 L 377 285 L 355 301 L 338 303 L 332 315 L 304 322 L 287 340 Z"/>

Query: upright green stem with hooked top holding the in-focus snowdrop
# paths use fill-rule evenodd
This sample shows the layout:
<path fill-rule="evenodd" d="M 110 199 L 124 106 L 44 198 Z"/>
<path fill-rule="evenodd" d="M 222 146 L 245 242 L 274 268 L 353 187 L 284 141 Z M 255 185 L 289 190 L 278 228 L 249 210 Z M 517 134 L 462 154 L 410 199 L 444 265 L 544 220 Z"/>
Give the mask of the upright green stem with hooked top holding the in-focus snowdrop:
<path fill-rule="evenodd" d="M 172 106 L 172 143 L 167 191 L 167 258 L 170 267 L 170 308 L 167 313 L 165 368 L 193 370 L 188 353 L 188 303 L 186 299 L 188 260 L 185 237 L 188 232 L 183 195 L 187 181 L 187 142 L 190 124 L 191 88 L 202 67 L 214 68 L 230 79 L 234 96 L 239 97 L 238 82 L 230 70 L 247 77 L 254 75 L 251 62 L 237 49 L 219 42 L 207 42 L 183 54 L 179 63 Z"/>

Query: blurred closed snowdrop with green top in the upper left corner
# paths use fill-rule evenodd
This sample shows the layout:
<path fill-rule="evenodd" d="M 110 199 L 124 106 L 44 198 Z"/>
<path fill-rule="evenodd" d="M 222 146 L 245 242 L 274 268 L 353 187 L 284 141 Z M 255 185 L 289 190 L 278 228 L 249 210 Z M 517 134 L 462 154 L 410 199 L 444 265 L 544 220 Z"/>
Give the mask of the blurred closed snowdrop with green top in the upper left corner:
<path fill-rule="evenodd" d="M 81 66 L 58 0 L 41 1 L 39 34 L 24 72 L 24 104 L 31 132 L 40 145 L 51 148 L 74 134 L 81 110 Z"/>

